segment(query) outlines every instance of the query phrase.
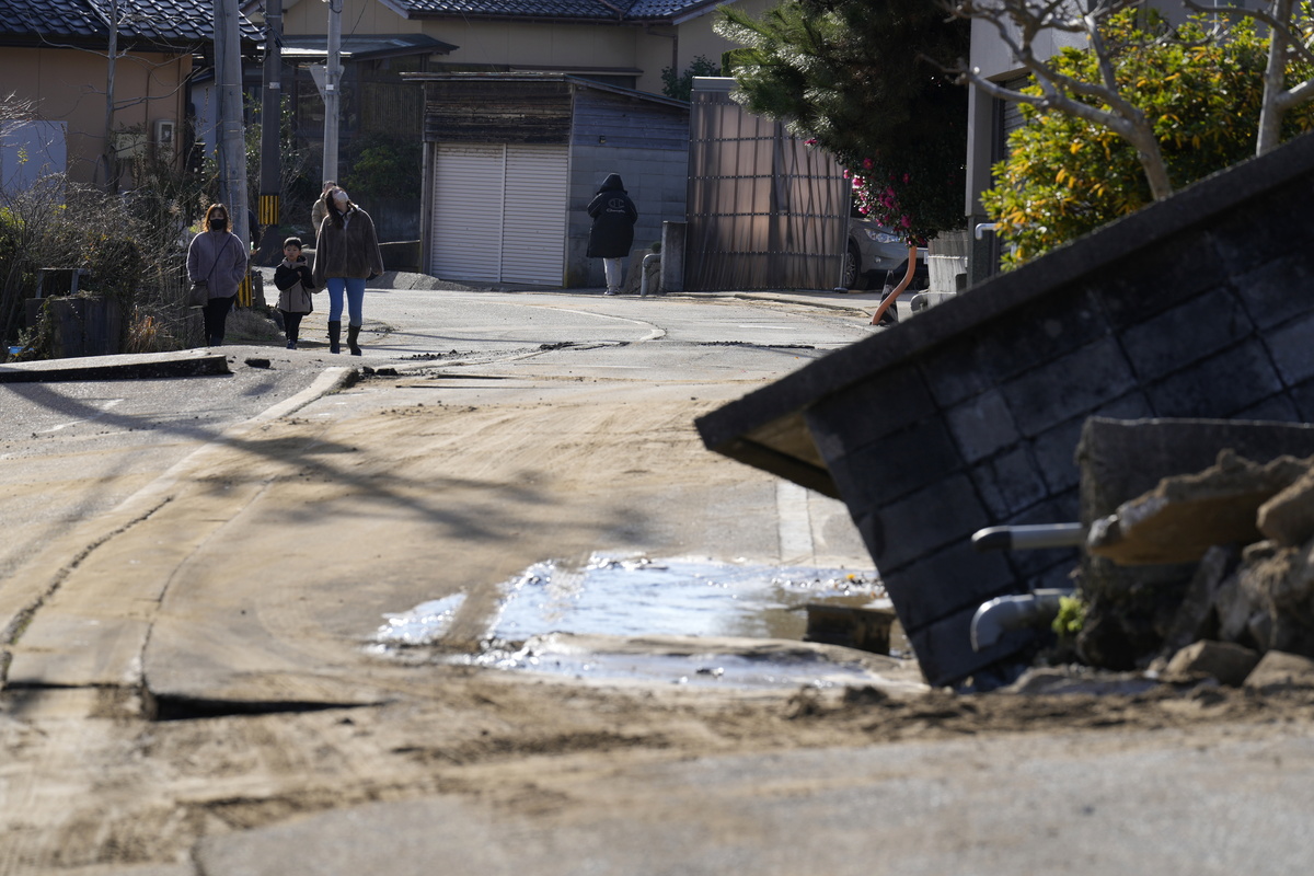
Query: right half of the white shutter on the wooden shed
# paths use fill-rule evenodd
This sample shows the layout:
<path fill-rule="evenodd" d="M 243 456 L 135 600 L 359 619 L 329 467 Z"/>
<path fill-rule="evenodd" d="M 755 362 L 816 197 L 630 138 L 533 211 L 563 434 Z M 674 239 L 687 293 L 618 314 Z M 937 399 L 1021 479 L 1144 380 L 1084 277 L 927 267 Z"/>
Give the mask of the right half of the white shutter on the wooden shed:
<path fill-rule="evenodd" d="M 566 147 L 507 146 L 502 281 L 560 286 L 566 263 Z"/>

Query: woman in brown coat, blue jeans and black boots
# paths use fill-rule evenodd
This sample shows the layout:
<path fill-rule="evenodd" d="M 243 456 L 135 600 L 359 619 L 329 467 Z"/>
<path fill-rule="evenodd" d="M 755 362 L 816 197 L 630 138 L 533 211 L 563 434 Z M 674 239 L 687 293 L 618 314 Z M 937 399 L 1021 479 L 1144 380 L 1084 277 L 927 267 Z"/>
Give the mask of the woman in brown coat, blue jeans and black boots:
<path fill-rule="evenodd" d="M 342 338 L 342 293 L 347 293 L 347 345 L 360 356 L 360 326 L 364 322 L 365 280 L 384 272 L 374 221 L 352 204 L 347 193 L 334 186 L 325 192 L 326 217 L 315 243 L 314 280 L 328 290 L 328 352 L 339 352 Z"/>

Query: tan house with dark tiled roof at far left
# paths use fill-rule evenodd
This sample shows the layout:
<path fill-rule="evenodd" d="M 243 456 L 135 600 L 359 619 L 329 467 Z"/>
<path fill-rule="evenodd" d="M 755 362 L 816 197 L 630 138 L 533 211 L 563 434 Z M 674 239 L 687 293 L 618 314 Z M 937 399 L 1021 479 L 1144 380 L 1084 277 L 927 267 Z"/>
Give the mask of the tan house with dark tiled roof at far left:
<path fill-rule="evenodd" d="M 122 186 L 122 159 L 148 150 L 180 160 L 187 83 L 213 14 L 210 0 L 0 0 L 0 96 L 32 106 L 5 123 L 7 159 L 24 156 L 5 168 L 30 165 L 35 148 L 46 169 Z M 259 37 L 244 17 L 240 26 L 244 41 Z"/>

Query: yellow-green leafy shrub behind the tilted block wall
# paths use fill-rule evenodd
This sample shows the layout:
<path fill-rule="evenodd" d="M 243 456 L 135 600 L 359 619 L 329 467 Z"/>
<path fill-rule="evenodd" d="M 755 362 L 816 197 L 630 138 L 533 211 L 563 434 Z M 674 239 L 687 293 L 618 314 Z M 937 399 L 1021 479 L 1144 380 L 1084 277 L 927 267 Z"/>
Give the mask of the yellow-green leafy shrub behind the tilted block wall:
<path fill-rule="evenodd" d="M 1137 9 L 1112 17 L 1110 62 L 1120 89 L 1144 112 L 1180 188 L 1255 152 L 1267 39 L 1247 21 L 1225 39 L 1193 18 L 1176 30 Z M 1053 59 L 1063 75 L 1099 81 L 1093 53 L 1064 49 Z M 1294 81 L 1314 75 L 1293 62 Z M 1041 95 L 1038 87 L 1026 89 Z M 1151 201 L 1135 148 L 1112 130 L 1058 110 L 1021 105 L 1028 125 L 1009 137 L 1009 158 L 995 165 L 995 185 L 982 194 L 996 232 L 1008 244 L 1005 267 L 1021 264 L 1127 215 Z M 1286 113 L 1284 137 L 1314 126 L 1309 104 Z"/>

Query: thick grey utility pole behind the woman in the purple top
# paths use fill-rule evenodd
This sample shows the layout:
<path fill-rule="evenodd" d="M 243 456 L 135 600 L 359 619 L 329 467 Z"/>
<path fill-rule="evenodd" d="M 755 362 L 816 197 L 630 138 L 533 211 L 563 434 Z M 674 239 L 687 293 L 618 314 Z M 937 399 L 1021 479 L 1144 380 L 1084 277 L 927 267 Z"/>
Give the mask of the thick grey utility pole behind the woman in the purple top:
<path fill-rule="evenodd" d="M 214 0 L 214 81 L 219 92 L 219 198 L 230 230 L 251 246 L 247 219 L 246 131 L 242 123 L 242 43 L 237 0 Z"/>

